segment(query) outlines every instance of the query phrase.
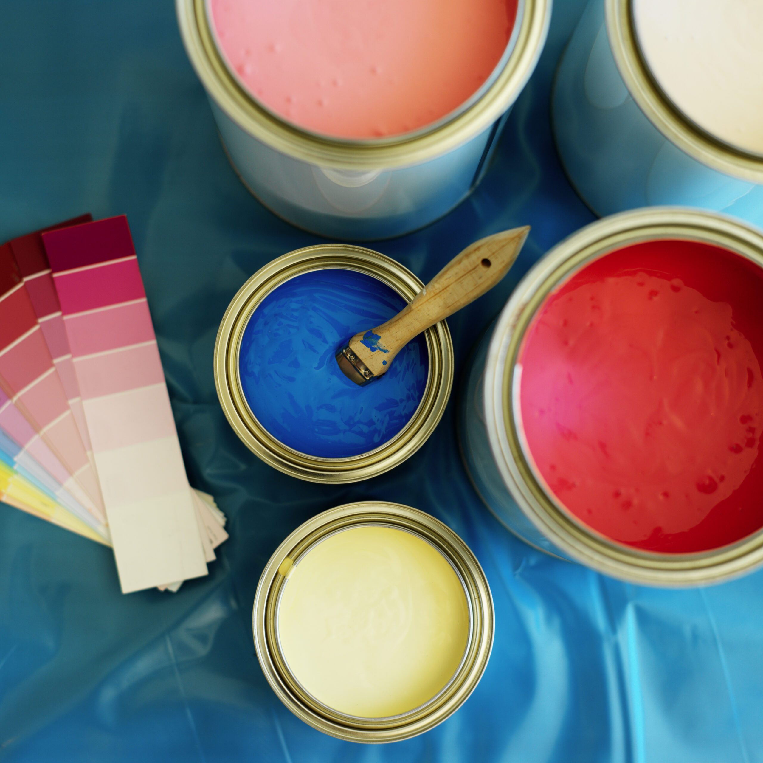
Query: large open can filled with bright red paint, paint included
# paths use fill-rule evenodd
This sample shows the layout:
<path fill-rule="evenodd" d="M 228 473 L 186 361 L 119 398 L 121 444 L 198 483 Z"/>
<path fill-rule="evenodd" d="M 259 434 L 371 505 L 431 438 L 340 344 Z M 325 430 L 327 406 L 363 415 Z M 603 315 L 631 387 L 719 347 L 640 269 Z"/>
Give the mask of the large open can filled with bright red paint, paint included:
<path fill-rule="evenodd" d="M 523 278 L 476 350 L 462 453 L 546 552 L 639 584 L 763 562 L 763 235 L 719 214 L 607 217 Z"/>

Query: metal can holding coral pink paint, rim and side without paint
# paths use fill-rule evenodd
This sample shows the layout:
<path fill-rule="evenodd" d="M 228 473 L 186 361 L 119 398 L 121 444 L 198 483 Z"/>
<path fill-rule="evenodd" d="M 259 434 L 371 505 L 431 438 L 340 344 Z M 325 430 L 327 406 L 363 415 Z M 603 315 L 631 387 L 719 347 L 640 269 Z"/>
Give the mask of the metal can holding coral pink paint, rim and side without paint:
<path fill-rule="evenodd" d="M 304 230 L 375 240 L 443 217 L 480 182 L 540 56 L 551 0 L 520 0 L 507 53 L 466 108 L 417 132 L 375 140 L 331 139 L 277 118 L 227 69 L 205 0 L 176 0 L 176 10 L 224 149 L 250 192 Z"/>

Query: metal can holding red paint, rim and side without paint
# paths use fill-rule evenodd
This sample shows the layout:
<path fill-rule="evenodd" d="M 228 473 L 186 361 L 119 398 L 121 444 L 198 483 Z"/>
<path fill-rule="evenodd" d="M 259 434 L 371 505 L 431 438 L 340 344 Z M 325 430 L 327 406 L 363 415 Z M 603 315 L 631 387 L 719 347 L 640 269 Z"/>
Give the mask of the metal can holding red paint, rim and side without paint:
<path fill-rule="evenodd" d="M 475 350 L 459 414 L 462 456 L 494 515 L 537 549 L 624 581 L 685 587 L 724 581 L 763 564 L 763 530 L 697 553 L 646 552 L 615 543 L 563 510 L 533 468 L 519 414 L 517 359 L 549 294 L 613 250 L 649 240 L 719 246 L 763 269 L 763 234 L 732 218 L 689 208 L 646 208 L 605 217 L 555 246 L 527 273 Z M 763 295 L 761 295 L 763 300 Z"/>

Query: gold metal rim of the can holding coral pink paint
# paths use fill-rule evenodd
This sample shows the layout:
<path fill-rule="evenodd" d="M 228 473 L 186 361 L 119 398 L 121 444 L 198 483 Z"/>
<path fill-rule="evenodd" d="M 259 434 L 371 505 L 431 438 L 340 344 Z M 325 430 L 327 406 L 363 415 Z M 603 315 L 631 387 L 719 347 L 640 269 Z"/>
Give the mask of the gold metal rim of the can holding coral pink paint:
<path fill-rule="evenodd" d="M 379 140 L 343 140 L 314 134 L 259 105 L 231 75 L 217 49 L 206 5 L 206 0 L 175 0 L 188 57 L 217 105 L 241 129 L 287 156 L 332 169 L 370 170 L 426 162 L 490 127 L 513 104 L 535 69 L 549 30 L 552 0 L 520 0 L 508 46 L 510 55 L 491 85 L 471 105 L 453 112 L 434 127 Z"/>

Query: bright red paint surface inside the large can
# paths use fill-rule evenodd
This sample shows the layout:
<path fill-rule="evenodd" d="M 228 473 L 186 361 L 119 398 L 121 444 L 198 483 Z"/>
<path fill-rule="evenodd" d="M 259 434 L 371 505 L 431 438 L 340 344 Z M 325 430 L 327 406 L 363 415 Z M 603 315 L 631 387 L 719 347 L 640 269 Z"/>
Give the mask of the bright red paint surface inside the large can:
<path fill-rule="evenodd" d="M 555 291 L 520 351 L 537 472 L 578 520 L 656 552 L 763 527 L 763 275 L 741 256 L 653 241 Z"/>

